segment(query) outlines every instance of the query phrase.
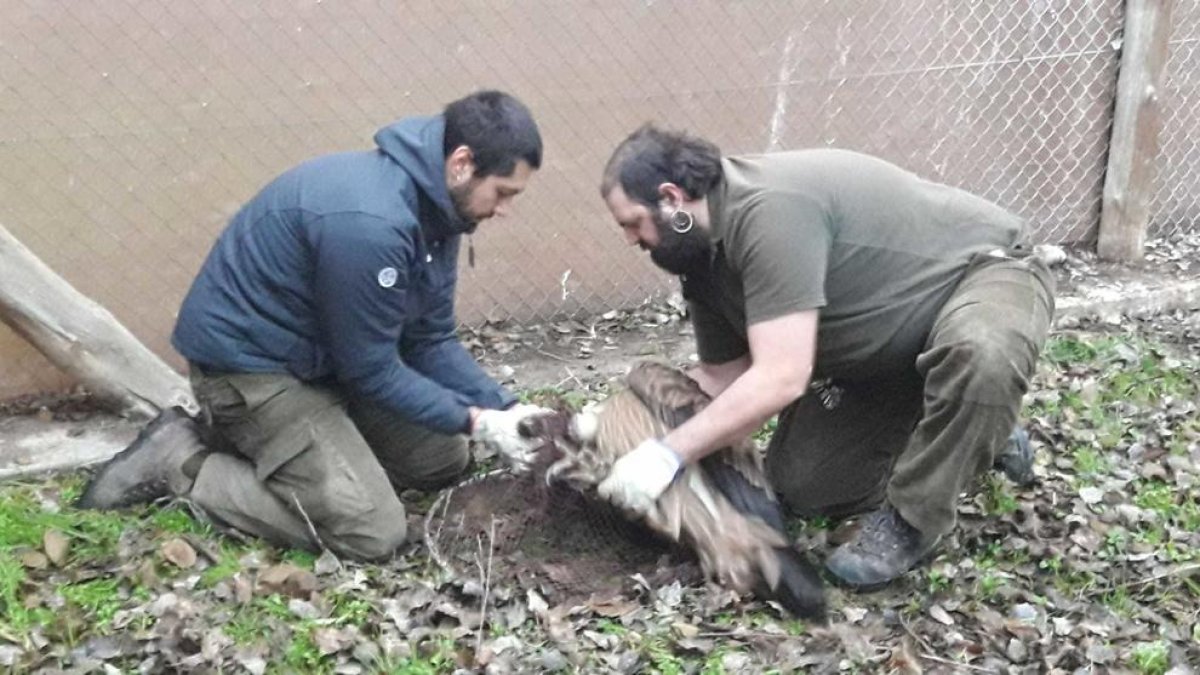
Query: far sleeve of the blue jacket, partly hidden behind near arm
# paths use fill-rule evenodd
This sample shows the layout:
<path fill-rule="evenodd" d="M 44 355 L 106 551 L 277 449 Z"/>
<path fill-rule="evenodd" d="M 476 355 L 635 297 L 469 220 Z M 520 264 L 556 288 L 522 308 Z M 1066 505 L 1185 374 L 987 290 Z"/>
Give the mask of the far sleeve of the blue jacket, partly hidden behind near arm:
<path fill-rule="evenodd" d="M 517 402 L 512 392 L 484 372 L 455 333 L 454 294 L 456 274 L 436 306 L 410 323 L 401 342 L 404 362 L 426 377 L 455 390 L 460 401 L 482 408 L 504 410 Z"/>

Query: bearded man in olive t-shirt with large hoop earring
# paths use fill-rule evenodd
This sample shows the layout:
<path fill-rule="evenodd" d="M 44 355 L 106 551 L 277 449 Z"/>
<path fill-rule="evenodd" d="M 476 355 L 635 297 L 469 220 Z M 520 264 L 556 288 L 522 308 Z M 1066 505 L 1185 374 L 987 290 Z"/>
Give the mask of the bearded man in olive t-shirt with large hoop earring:
<path fill-rule="evenodd" d="M 844 150 L 721 157 L 644 126 L 601 193 L 626 240 L 680 276 L 710 406 L 614 465 L 644 512 L 679 467 L 779 414 L 767 470 L 805 514 L 869 512 L 827 560 L 857 587 L 924 560 L 1013 432 L 1054 311 L 1025 223 Z"/>

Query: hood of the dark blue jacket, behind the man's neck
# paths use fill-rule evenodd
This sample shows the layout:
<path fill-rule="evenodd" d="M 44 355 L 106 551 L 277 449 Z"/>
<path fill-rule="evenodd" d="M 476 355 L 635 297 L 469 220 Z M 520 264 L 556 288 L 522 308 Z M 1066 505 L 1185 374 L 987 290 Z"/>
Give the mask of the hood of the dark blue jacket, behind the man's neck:
<path fill-rule="evenodd" d="M 380 129 L 374 136 L 379 150 L 408 172 L 416 187 L 437 207 L 440 217 L 434 219 L 436 222 L 421 222 L 421 227 L 434 237 L 464 234 L 472 229 L 469 222 L 458 217 L 446 190 L 444 138 L 445 118 L 442 115 L 406 118 Z"/>

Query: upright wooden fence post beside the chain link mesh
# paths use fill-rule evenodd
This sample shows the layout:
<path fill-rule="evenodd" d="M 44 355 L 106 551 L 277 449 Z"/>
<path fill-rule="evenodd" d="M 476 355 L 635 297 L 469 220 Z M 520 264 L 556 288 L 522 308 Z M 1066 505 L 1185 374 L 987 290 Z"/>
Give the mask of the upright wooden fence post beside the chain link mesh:
<path fill-rule="evenodd" d="M 1159 91 L 1171 32 L 1171 0 L 1126 0 L 1121 71 L 1104 177 L 1100 234 L 1104 259 L 1142 257 L 1158 159 Z"/>

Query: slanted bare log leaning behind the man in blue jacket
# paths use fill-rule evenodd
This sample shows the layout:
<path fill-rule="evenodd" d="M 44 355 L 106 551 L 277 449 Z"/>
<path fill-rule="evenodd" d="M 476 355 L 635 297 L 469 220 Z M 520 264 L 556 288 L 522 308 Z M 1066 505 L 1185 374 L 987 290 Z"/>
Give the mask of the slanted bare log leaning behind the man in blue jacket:
<path fill-rule="evenodd" d="M 168 406 L 199 410 L 187 380 L 2 225 L 0 321 L 118 412 L 154 417 Z"/>

